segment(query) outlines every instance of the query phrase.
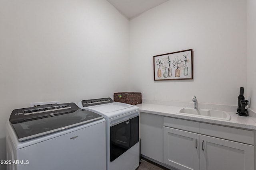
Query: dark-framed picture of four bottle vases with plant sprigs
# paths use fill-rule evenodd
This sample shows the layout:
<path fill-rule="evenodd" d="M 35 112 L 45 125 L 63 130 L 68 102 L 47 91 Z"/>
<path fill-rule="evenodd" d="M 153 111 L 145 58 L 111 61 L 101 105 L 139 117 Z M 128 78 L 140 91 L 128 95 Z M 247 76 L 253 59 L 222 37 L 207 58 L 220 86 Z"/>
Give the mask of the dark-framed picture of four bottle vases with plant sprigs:
<path fill-rule="evenodd" d="M 154 81 L 193 79 L 193 49 L 155 55 Z"/>

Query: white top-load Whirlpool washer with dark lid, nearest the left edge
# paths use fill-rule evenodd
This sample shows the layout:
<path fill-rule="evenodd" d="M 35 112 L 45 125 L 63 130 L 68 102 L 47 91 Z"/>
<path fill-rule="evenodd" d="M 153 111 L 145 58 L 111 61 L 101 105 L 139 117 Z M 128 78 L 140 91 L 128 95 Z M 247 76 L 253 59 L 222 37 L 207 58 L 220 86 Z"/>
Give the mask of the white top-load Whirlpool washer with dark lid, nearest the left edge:
<path fill-rule="evenodd" d="M 106 170 L 105 124 L 74 103 L 15 109 L 6 123 L 7 170 Z"/>

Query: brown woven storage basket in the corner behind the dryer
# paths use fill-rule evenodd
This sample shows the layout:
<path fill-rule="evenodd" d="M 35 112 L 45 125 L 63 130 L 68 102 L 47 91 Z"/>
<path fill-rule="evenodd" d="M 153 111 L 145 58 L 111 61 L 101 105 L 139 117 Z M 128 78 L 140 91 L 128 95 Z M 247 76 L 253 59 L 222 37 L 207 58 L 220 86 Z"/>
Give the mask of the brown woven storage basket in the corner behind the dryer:
<path fill-rule="evenodd" d="M 114 93 L 114 101 L 127 104 L 141 104 L 141 93 L 137 92 L 120 92 Z"/>

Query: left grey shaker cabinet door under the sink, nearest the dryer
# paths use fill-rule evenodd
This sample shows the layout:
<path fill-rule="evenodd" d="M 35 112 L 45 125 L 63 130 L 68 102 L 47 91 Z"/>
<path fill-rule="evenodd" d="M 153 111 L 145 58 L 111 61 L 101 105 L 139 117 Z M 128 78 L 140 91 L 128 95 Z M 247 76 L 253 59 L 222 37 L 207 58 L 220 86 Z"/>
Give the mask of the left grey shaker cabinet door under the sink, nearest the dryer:
<path fill-rule="evenodd" d="M 199 137 L 196 133 L 164 127 L 164 163 L 179 170 L 199 170 Z"/>

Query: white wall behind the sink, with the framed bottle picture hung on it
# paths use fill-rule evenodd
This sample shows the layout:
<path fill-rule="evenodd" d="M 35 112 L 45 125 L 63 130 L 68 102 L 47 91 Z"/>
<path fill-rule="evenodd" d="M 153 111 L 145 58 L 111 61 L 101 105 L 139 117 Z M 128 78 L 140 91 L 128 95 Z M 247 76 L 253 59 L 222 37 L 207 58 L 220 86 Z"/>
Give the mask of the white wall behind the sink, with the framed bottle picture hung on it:
<path fill-rule="evenodd" d="M 194 51 L 194 79 L 155 81 L 153 56 Z M 247 90 L 246 0 L 170 0 L 130 21 L 132 90 L 144 99 L 237 105 Z"/>

